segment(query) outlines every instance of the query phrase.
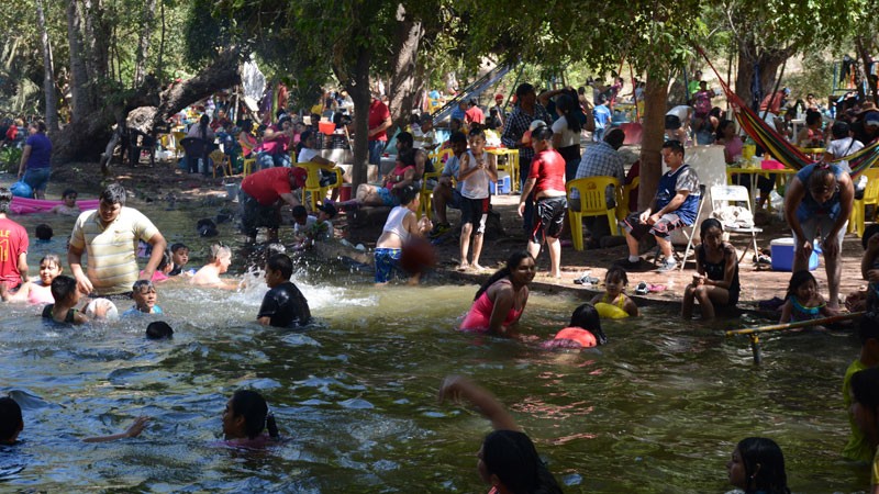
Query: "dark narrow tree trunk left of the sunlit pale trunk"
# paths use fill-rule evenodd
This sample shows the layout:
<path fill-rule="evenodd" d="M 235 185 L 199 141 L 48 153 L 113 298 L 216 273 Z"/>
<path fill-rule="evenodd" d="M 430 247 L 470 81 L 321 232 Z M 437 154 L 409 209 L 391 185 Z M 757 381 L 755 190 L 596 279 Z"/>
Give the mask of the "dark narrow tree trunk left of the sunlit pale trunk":
<path fill-rule="evenodd" d="M 352 190 L 356 191 L 360 183 L 366 183 L 369 159 L 369 105 L 372 96 L 369 92 L 369 65 L 371 53 L 360 46 L 357 50 L 353 78 L 348 79 L 346 89 L 354 100 L 354 167 L 352 170 Z M 334 67 L 336 74 L 344 74 Z"/>

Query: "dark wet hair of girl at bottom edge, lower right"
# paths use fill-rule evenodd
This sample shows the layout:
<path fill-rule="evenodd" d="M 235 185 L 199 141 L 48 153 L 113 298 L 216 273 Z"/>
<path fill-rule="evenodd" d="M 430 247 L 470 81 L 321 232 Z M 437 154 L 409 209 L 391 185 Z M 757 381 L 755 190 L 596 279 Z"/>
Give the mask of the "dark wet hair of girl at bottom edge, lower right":
<path fill-rule="evenodd" d="M 765 437 L 747 437 L 736 446 L 745 465 L 746 494 L 790 494 L 785 473 L 785 454 L 776 441 Z M 759 470 L 757 465 L 759 464 Z"/>

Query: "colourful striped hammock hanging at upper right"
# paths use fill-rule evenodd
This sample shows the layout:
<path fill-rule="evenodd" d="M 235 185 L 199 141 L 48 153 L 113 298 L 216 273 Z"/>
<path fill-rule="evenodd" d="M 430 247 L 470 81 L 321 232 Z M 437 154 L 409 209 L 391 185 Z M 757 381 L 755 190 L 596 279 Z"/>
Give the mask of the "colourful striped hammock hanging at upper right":
<path fill-rule="evenodd" d="M 738 98 L 738 96 L 733 92 L 728 86 L 726 86 L 726 82 L 724 82 L 723 78 L 717 72 L 717 69 L 715 69 L 711 64 L 711 60 L 708 58 L 708 55 L 705 55 L 702 48 L 697 49 L 705 59 L 709 67 L 711 67 L 711 70 L 714 70 L 714 74 L 717 76 L 721 88 L 723 88 L 723 92 L 726 94 L 730 106 L 733 109 L 733 114 L 738 121 L 738 125 L 742 126 L 742 130 L 745 131 L 745 133 L 750 136 L 755 143 L 769 151 L 774 158 L 783 164 L 787 168 L 800 170 L 803 167 L 815 162 L 803 151 L 801 151 L 800 148 L 789 143 L 775 128 L 770 127 L 769 124 L 760 119 L 760 116 L 754 110 L 752 110 L 744 101 L 742 101 L 742 99 Z M 852 177 L 856 177 L 858 173 L 863 172 L 867 168 L 870 168 L 877 162 L 877 160 L 879 160 L 879 141 L 871 143 L 869 146 L 864 147 L 857 153 L 833 159 L 831 162 L 838 162 L 843 160 L 848 161 L 848 166 L 852 168 L 850 175 Z"/>

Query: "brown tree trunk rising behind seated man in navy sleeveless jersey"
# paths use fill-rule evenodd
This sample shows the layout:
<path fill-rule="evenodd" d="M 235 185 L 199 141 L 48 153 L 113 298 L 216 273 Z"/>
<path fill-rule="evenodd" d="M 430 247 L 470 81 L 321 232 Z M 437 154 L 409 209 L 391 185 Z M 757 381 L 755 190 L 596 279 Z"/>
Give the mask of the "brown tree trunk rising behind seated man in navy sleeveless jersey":
<path fill-rule="evenodd" d="M 647 75 L 644 90 L 644 133 L 641 141 L 641 182 L 638 184 L 638 209 L 645 210 L 656 195 L 659 177 L 663 175 L 660 149 L 665 141 L 666 98 L 668 81 L 655 74 Z"/>

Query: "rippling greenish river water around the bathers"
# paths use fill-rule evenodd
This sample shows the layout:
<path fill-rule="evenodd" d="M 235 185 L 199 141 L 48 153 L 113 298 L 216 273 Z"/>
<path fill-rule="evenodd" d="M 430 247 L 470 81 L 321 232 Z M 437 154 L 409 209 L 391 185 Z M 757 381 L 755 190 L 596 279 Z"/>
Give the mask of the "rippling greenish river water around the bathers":
<path fill-rule="evenodd" d="M 198 213 L 141 209 L 169 242 L 209 244 L 192 238 Z M 29 232 L 38 223 L 22 222 Z M 34 246 L 32 269 L 63 250 L 73 218 L 49 223 L 58 237 Z M 170 343 L 145 340 L 143 321 L 58 329 L 37 307 L 2 306 L 0 390 L 27 390 L 46 406 L 27 407 L 24 442 L 0 452 L 0 491 L 485 492 L 475 453 L 489 426 L 436 403 L 449 373 L 494 392 L 568 492 L 726 492 L 725 462 L 750 435 L 781 445 L 795 492 L 869 485 L 838 457 L 853 337 L 776 335 L 755 367 L 746 339 L 719 336 L 742 322 L 682 324 L 647 307 L 607 323 L 600 350 L 547 353 L 536 344 L 578 301 L 533 295 L 523 344 L 453 329 L 475 287 L 377 290 L 368 274 L 326 265 L 296 281 L 319 319 L 304 332 L 254 324 L 259 290 L 162 285 Z M 266 395 L 287 445 L 262 454 L 211 446 L 242 386 Z M 79 442 L 137 415 L 154 417 L 138 439 Z"/>

